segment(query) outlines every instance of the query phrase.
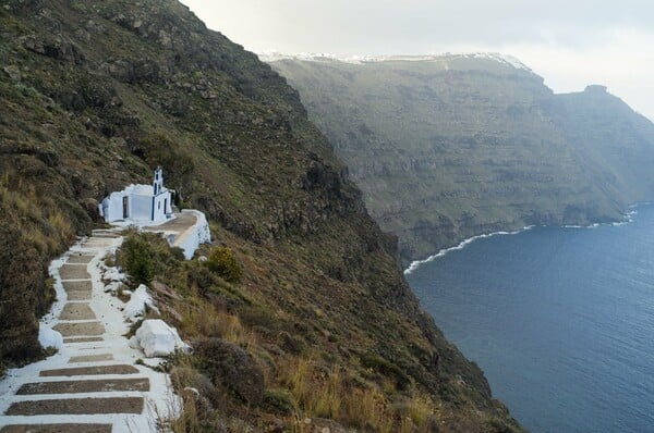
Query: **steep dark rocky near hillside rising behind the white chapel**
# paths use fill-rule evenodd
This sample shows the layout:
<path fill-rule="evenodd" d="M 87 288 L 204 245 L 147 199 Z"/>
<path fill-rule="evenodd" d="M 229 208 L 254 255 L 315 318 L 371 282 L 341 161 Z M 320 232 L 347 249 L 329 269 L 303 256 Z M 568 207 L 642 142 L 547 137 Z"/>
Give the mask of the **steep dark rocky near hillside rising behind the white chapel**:
<path fill-rule="evenodd" d="M 167 283 L 189 297 L 184 311 L 210 305 L 240 320 L 270 381 L 313 354 L 320 371 L 348 371 L 354 393 L 383 389 L 388 408 L 427 393 L 441 428 L 519 429 L 420 310 L 395 237 L 368 216 L 298 94 L 254 54 L 172 0 L 3 0 L 0 62 L 2 362 L 39 355 L 48 261 L 99 223 L 99 199 L 161 164 L 243 268 L 239 286 L 191 264 Z M 253 410 L 244 422 L 276 413 Z"/>

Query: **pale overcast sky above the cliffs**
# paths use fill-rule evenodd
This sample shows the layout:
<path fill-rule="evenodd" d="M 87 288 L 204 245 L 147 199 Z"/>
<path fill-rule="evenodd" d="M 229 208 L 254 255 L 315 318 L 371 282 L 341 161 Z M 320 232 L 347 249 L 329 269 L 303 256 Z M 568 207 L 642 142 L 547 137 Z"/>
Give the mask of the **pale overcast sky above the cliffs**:
<path fill-rule="evenodd" d="M 181 0 L 254 52 L 510 54 L 556 92 L 602 84 L 654 120 L 651 0 Z"/>

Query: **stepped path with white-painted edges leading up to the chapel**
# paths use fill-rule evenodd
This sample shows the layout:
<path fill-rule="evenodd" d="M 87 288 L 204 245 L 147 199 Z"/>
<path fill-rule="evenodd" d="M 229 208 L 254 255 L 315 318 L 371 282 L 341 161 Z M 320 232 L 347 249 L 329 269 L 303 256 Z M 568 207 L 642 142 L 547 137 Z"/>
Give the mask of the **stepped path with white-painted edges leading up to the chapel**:
<path fill-rule="evenodd" d="M 123 304 L 104 292 L 98 264 L 121 242 L 94 231 L 50 265 L 58 301 L 45 323 L 63 347 L 0 382 L 0 433 L 155 432 L 177 411 L 168 376 L 136 363 Z"/>

